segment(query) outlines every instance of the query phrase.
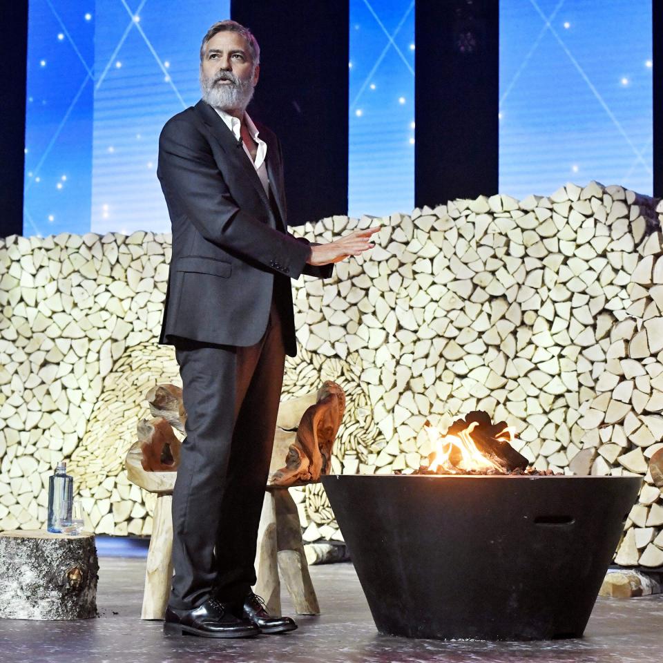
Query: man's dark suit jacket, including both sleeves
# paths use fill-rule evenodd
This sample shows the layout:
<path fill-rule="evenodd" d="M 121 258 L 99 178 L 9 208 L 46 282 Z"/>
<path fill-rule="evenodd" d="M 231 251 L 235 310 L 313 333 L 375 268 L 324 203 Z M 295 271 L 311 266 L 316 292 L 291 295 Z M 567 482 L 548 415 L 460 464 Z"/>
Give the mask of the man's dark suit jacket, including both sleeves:
<path fill-rule="evenodd" d="M 242 144 L 209 104 L 201 100 L 162 129 L 157 175 L 173 229 L 162 345 L 173 345 L 173 336 L 253 345 L 276 289 L 285 349 L 295 356 L 290 279 L 332 274 L 332 265 L 307 265 L 308 240 L 287 232 L 280 143 L 256 126 L 267 143 L 271 204 Z"/>

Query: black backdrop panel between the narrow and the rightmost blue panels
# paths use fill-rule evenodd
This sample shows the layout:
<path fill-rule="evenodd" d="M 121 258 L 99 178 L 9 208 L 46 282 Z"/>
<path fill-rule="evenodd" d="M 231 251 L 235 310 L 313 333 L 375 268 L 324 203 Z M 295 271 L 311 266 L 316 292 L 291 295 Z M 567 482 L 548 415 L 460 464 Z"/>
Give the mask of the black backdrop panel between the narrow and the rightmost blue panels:
<path fill-rule="evenodd" d="M 417 0 L 414 201 L 498 187 L 499 2 Z"/>

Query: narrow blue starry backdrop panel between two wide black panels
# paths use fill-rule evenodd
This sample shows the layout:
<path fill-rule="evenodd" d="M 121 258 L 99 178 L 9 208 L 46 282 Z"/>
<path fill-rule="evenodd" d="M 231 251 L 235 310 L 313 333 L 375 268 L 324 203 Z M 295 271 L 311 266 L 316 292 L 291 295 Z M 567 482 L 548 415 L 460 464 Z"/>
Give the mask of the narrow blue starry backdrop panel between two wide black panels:
<path fill-rule="evenodd" d="M 349 214 L 411 209 L 414 0 L 350 0 L 350 17 Z"/>

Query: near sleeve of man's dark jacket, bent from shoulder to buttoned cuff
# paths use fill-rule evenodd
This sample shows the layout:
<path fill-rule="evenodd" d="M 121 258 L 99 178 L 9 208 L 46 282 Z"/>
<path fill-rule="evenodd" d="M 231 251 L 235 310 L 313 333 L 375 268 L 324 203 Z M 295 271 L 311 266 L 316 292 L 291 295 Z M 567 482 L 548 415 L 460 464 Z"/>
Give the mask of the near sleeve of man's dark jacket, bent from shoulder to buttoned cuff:
<path fill-rule="evenodd" d="M 177 198 L 206 240 L 271 271 L 300 276 L 311 256 L 308 244 L 270 228 L 236 205 L 209 144 L 193 124 L 166 123 L 159 139 L 157 174 L 164 193 Z"/>

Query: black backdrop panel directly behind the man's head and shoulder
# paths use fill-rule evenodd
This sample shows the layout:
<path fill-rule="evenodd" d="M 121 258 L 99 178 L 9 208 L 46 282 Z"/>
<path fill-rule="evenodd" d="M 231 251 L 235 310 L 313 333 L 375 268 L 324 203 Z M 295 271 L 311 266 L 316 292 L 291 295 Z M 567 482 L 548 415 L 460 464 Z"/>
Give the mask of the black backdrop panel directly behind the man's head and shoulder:
<path fill-rule="evenodd" d="M 249 113 L 280 138 L 288 222 L 347 212 L 347 0 L 231 0 L 260 44 Z"/>

